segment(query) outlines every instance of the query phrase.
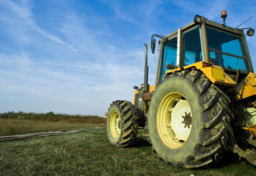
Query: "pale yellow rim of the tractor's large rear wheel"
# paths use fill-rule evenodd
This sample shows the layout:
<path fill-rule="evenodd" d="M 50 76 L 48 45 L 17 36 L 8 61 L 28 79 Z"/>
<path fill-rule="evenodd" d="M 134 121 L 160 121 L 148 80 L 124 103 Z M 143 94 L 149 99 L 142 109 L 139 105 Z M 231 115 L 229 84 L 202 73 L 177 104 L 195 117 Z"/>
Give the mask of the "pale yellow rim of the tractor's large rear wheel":
<path fill-rule="evenodd" d="M 158 134 L 164 144 L 176 149 L 185 144 L 192 129 L 192 113 L 189 102 L 177 92 L 162 98 L 157 115 Z"/>

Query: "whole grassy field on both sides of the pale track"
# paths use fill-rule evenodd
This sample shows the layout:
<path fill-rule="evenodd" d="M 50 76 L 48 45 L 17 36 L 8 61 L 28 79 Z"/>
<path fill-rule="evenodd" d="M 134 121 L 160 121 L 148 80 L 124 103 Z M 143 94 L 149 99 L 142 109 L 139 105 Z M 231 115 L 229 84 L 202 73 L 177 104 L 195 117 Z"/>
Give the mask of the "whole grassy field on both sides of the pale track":
<path fill-rule="evenodd" d="M 94 116 L 0 114 L 0 134 L 104 126 Z M 158 160 L 138 134 L 133 147 L 110 145 L 105 130 L 0 142 L 0 175 L 256 175 L 256 168 L 234 154 L 207 168 L 185 170 Z"/>

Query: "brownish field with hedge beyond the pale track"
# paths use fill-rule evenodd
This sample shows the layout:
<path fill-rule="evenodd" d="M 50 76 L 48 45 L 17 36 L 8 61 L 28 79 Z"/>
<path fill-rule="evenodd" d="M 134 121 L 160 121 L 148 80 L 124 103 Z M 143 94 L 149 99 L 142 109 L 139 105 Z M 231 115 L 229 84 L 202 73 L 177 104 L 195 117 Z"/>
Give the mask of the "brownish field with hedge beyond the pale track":
<path fill-rule="evenodd" d="M 97 116 L 67 114 L 6 113 L 0 114 L 0 136 L 43 132 L 50 130 L 82 129 L 105 126 L 106 119 Z"/>

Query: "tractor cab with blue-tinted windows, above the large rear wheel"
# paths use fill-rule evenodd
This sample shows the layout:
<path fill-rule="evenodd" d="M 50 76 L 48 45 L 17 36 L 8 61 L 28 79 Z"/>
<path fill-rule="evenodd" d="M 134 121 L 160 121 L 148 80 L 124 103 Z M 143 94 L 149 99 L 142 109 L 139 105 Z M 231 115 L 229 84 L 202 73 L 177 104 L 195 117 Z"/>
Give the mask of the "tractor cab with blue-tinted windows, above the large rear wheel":
<path fill-rule="evenodd" d="M 247 35 L 253 34 L 254 30 L 249 28 Z M 154 37 L 161 38 L 156 84 L 163 81 L 166 73 L 170 73 L 169 70 L 181 69 L 196 62 L 220 66 L 234 81 L 239 72 L 237 83 L 254 71 L 243 29 L 232 28 L 196 15 L 194 22 L 166 37 L 152 35 L 152 51 Z"/>

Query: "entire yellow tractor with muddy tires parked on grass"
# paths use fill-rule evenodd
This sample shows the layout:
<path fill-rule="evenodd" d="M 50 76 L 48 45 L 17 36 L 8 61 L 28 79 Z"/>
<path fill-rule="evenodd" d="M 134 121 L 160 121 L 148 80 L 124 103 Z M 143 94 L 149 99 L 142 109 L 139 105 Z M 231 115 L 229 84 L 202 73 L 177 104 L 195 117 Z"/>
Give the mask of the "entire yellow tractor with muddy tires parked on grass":
<path fill-rule="evenodd" d="M 155 85 L 134 86 L 134 102 L 114 101 L 107 113 L 107 137 L 130 146 L 143 128 L 153 152 L 184 168 L 218 162 L 226 151 L 256 166 L 256 74 L 246 45 L 251 28 L 226 26 L 195 15 L 194 22 L 159 39 Z"/>

